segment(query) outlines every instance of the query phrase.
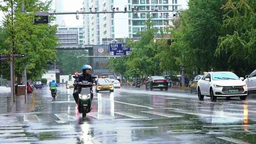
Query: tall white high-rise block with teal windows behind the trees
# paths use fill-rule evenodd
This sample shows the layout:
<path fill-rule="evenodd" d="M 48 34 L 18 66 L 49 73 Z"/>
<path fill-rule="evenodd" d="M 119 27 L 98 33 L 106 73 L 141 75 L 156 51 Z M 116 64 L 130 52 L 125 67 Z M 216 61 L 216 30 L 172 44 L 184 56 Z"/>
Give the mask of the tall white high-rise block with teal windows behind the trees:
<path fill-rule="evenodd" d="M 163 29 L 169 24 L 172 12 L 146 12 L 146 13 L 106 13 L 93 14 L 99 11 L 127 10 L 175 10 L 184 9 L 186 0 L 84 0 L 83 9 L 91 14 L 83 15 L 85 29 L 84 44 L 102 44 L 102 39 L 139 37 L 137 32 L 145 30 L 145 21 L 151 17 L 155 27 Z"/>

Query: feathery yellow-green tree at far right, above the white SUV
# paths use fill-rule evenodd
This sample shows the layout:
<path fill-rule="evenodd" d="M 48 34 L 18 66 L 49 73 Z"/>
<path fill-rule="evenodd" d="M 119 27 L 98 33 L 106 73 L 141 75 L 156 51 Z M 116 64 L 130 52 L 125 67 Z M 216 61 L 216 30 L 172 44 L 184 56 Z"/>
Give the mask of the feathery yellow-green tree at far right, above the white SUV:
<path fill-rule="evenodd" d="M 228 0 L 216 56 L 225 57 L 224 64 L 238 75 L 255 69 L 256 65 L 256 1 Z"/>

